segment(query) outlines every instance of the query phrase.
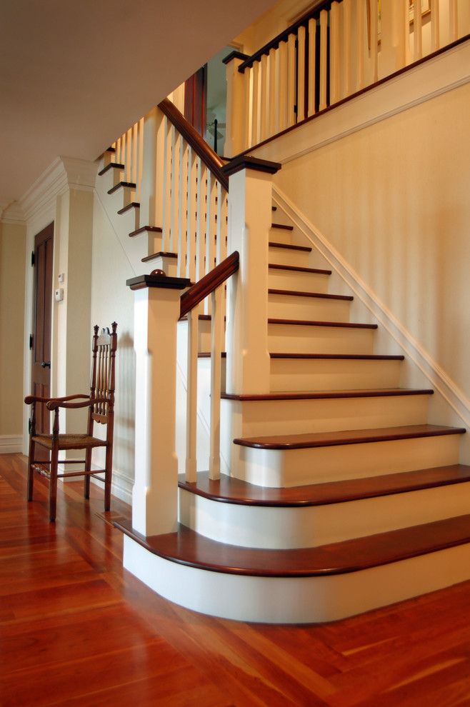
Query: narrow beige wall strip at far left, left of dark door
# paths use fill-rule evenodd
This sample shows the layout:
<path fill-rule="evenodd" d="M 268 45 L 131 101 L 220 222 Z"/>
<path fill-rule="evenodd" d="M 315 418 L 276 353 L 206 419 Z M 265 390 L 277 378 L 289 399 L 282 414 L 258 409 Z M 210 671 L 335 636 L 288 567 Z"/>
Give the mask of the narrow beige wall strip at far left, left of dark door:
<path fill-rule="evenodd" d="M 22 433 L 26 227 L 0 221 L 0 436 Z"/>

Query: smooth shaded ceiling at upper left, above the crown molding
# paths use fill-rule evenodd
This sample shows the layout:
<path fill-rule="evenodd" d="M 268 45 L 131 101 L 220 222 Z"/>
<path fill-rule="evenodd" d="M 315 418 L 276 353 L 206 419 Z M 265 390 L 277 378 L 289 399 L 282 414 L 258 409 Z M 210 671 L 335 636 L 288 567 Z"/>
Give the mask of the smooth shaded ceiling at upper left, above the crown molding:
<path fill-rule="evenodd" d="M 0 207 L 57 156 L 96 159 L 272 4 L 0 0 Z"/>

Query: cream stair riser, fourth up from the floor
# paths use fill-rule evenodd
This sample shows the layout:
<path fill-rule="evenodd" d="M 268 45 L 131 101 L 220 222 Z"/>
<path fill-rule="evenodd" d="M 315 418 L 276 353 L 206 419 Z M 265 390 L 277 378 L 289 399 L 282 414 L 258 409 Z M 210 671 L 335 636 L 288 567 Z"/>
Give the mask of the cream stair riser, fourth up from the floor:
<path fill-rule="evenodd" d="M 422 425 L 426 395 L 319 400 L 221 401 L 221 433 L 236 437 Z"/>

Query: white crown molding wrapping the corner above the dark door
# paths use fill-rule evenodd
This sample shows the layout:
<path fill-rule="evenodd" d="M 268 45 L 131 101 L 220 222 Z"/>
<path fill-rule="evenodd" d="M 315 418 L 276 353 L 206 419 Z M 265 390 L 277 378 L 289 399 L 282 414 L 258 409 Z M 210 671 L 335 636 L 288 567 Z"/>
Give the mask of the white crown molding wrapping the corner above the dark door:
<path fill-rule="evenodd" d="M 67 189 L 93 191 L 96 170 L 95 162 L 75 157 L 56 157 L 19 199 L 26 221 L 54 206 L 56 197 L 64 194 Z"/>

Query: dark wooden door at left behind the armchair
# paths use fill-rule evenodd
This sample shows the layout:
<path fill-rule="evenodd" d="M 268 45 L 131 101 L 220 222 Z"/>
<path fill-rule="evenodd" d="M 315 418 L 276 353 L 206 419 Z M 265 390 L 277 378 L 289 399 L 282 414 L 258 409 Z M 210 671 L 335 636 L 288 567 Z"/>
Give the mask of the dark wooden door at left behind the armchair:
<path fill-rule="evenodd" d="M 51 395 L 51 317 L 52 254 L 54 224 L 34 238 L 33 365 L 31 393 L 44 398 Z M 49 412 L 36 406 L 36 433 L 49 433 Z M 37 451 L 39 452 L 39 449 Z M 36 454 L 36 456 L 38 456 Z"/>

